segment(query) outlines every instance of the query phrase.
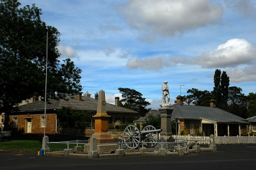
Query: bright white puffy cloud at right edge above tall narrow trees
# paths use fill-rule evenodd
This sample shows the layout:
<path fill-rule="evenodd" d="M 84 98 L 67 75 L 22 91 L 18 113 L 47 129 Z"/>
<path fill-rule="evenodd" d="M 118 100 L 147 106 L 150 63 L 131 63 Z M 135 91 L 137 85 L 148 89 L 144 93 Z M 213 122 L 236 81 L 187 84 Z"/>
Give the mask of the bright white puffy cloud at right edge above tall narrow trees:
<path fill-rule="evenodd" d="M 211 52 L 204 52 L 202 56 L 191 60 L 195 65 L 203 68 L 227 68 L 239 65 L 250 65 L 255 58 L 256 47 L 244 39 L 231 39 Z"/>

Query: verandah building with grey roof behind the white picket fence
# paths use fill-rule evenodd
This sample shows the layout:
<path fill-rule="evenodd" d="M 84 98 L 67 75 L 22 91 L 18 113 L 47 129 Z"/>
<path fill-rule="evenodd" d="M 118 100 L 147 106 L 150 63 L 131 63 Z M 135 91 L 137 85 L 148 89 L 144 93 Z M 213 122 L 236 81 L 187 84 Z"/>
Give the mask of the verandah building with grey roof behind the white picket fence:
<path fill-rule="evenodd" d="M 172 105 L 172 122 L 177 123 L 177 134 L 189 135 L 236 136 L 248 135 L 250 123 L 244 118 L 215 107 L 214 100 L 210 107 L 183 105 L 182 98 L 177 97 L 177 104 Z M 134 121 L 141 124 L 145 118 Z"/>

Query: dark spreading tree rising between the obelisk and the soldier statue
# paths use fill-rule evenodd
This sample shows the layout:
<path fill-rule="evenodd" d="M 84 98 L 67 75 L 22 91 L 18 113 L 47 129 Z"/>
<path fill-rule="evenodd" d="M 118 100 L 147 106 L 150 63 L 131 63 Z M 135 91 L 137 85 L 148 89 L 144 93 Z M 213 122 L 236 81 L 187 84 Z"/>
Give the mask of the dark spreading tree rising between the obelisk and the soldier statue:
<path fill-rule="evenodd" d="M 140 92 L 129 88 L 118 88 L 118 90 L 122 93 L 121 102 L 125 102 L 125 108 L 138 111 L 140 116 L 145 116 L 148 110 L 150 110 L 145 108 L 150 103 L 146 101 L 146 98 L 142 97 L 143 95 Z"/>

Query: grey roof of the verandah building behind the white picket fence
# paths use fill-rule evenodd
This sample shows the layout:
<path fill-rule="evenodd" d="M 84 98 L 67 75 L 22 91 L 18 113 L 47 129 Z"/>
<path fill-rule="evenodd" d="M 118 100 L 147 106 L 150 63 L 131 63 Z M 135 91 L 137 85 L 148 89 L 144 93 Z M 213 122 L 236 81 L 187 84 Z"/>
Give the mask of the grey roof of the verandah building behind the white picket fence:
<path fill-rule="evenodd" d="M 217 107 L 179 104 L 174 104 L 171 107 L 174 108 L 172 112 L 172 120 L 179 118 L 184 120 L 202 120 L 204 123 L 248 123 L 246 119 L 230 112 L 223 111 Z M 157 113 L 159 114 L 159 111 L 157 111 Z M 145 122 L 146 118 L 147 116 L 134 122 Z"/>

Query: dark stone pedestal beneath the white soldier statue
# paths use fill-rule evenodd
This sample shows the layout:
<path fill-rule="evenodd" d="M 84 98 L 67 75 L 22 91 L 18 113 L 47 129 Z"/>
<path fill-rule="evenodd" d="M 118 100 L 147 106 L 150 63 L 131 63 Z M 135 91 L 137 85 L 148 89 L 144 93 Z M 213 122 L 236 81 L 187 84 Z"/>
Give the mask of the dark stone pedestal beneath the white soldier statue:
<path fill-rule="evenodd" d="M 162 106 L 159 108 L 159 112 L 161 114 L 161 129 L 162 132 L 160 135 L 172 135 L 172 123 L 171 117 L 173 112 L 173 107 L 170 106 Z"/>

